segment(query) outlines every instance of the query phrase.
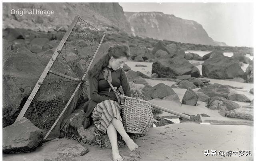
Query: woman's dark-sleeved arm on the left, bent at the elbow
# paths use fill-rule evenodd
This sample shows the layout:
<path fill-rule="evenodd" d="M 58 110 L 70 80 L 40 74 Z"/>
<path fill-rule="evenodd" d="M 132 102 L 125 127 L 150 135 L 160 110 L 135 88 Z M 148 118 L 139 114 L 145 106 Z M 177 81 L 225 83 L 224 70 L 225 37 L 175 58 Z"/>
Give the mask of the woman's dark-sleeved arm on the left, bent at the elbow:
<path fill-rule="evenodd" d="M 109 100 L 109 98 L 100 96 L 98 94 L 98 82 L 99 82 L 99 75 L 90 78 L 90 97 L 95 102 L 102 102 L 104 100 Z"/>

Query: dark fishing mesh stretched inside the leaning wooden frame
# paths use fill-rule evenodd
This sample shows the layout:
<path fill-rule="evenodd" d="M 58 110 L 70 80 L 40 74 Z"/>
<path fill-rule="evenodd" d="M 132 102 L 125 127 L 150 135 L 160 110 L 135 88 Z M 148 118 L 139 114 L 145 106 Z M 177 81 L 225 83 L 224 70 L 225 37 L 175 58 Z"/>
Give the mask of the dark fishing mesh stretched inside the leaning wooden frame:
<path fill-rule="evenodd" d="M 56 73 L 81 80 L 103 35 L 102 31 L 78 18 L 61 51 L 58 51 L 58 57 L 46 78 L 43 82 L 40 82 L 41 86 L 26 110 L 24 117 L 28 118 L 38 128 L 44 130 L 45 135 L 65 108 L 80 82 L 61 77 Z M 73 112 L 81 93 L 82 85 L 68 105 L 62 118 Z M 58 137 L 58 135 L 57 124 L 49 137 Z"/>

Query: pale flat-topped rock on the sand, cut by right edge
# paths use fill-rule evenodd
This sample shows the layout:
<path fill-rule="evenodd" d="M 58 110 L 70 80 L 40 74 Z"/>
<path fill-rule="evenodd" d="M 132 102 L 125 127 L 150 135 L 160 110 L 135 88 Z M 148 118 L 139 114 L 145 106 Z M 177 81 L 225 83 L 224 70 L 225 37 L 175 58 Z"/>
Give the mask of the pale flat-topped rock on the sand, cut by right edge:
<path fill-rule="evenodd" d="M 245 120 L 253 120 L 253 108 L 240 107 L 226 112 L 229 118 L 241 118 Z"/>

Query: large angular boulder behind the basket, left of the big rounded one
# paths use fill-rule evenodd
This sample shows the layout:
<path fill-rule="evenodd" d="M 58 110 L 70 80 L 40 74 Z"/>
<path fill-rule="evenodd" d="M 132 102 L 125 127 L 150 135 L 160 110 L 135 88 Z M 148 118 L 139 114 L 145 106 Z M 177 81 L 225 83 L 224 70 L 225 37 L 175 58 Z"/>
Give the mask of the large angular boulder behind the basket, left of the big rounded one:
<path fill-rule="evenodd" d="M 152 73 L 156 73 L 160 77 L 176 78 L 179 75 L 191 75 L 191 77 L 200 77 L 199 69 L 181 57 L 160 59 L 154 62 L 152 64 Z"/>

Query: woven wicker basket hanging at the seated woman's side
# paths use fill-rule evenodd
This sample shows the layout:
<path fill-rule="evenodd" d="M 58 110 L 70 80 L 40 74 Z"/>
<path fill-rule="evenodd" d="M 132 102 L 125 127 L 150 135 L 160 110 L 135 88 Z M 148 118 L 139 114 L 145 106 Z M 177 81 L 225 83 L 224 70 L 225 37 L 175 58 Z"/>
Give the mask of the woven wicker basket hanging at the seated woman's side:
<path fill-rule="evenodd" d="M 153 125 L 150 102 L 140 98 L 120 95 L 124 130 L 128 133 L 146 134 Z"/>

